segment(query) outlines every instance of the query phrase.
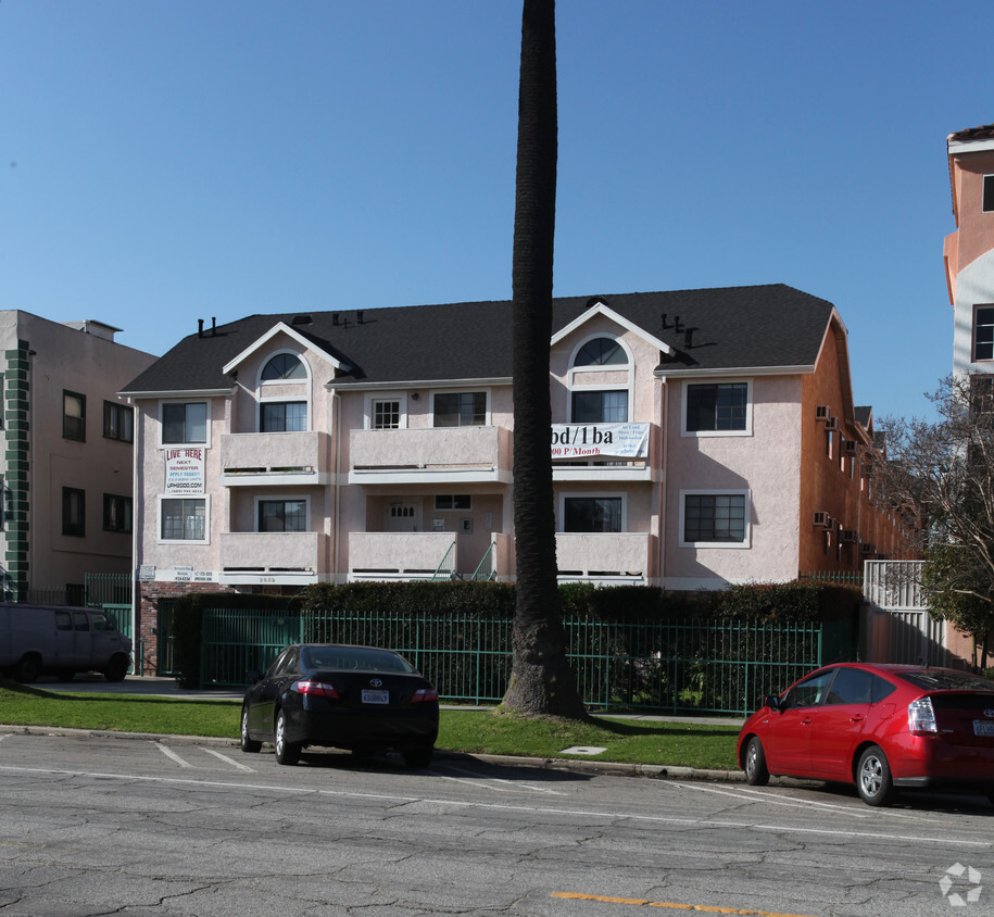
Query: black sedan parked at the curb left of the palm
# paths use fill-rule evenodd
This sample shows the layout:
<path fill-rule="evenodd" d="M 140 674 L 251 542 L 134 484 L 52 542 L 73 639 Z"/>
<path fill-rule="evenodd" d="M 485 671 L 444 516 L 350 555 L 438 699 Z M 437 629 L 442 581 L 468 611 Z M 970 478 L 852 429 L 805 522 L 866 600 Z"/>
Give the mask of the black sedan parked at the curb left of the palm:
<path fill-rule="evenodd" d="M 241 750 L 276 746 L 297 764 L 307 745 L 374 754 L 392 749 L 408 767 L 427 767 L 438 738 L 438 691 L 403 656 L 374 646 L 288 646 L 246 692 Z"/>

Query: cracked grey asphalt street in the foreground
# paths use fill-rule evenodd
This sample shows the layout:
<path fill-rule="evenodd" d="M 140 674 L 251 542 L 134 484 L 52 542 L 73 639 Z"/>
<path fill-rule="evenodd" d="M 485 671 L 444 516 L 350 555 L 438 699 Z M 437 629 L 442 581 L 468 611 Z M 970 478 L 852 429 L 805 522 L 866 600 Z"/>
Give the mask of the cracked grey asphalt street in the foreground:
<path fill-rule="evenodd" d="M 992 913 L 994 807 L 0 728 L 0 914 Z M 976 900 L 974 900 L 976 899 Z"/>

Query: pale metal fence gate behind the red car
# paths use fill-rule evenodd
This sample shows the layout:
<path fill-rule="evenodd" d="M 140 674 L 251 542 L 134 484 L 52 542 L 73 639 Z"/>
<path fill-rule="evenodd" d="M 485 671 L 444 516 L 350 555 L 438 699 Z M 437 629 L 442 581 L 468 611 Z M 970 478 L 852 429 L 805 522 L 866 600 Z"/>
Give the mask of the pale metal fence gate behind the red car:
<path fill-rule="evenodd" d="M 869 663 L 948 665 L 946 626 L 921 595 L 921 561 L 867 561 L 859 657 Z"/>

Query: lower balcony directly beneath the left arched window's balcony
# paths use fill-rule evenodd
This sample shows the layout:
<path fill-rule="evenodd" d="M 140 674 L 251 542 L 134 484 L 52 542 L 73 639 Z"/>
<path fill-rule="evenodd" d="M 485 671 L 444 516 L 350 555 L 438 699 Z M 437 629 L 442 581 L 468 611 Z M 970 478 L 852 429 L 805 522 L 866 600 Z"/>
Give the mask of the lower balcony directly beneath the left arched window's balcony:
<path fill-rule="evenodd" d="M 221 568 L 221 582 L 319 582 L 328 578 L 328 536 L 320 531 L 222 532 Z"/>

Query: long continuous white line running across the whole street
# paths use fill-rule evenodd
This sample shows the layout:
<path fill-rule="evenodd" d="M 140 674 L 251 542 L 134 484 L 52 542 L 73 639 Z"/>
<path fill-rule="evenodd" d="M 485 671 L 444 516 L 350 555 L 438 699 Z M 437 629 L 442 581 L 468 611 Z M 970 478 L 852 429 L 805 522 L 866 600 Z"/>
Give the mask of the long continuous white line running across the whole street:
<path fill-rule="evenodd" d="M 189 777 L 160 777 L 144 774 L 110 774 L 102 770 L 71 770 L 58 767 L 24 767 L 0 764 L 0 772 L 11 774 L 47 774 L 52 777 L 92 777 L 95 779 L 114 779 L 123 782 L 146 783 L 178 783 L 196 784 L 200 787 L 222 787 L 231 790 L 259 790 L 266 792 L 287 793 L 293 795 L 339 796 L 356 800 L 385 800 L 407 803 L 424 803 L 446 808 L 492 808 L 498 812 L 520 812 L 531 815 L 561 815 L 581 818 L 604 818 L 609 821 L 649 821 L 654 825 L 681 825 L 691 828 L 738 828 L 746 831 L 773 831 L 788 834 L 822 834 L 830 838 L 845 838 L 847 840 L 879 839 L 886 841 L 907 841 L 916 844 L 943 844 L 947 846 L 969 846 L 994 850 L 994 841 L 973 841 L 968 838 L 942 838 L 928 834 L 895 834 L 890 831 L 860 831 L 840 830 L 827 828 L 801 828 L 791 825 L 775 825 L 760 821 L 731 821 L 729 819 L 712 820 L 708 818 L 678 818 L 669 815 L 643 815 L 626 812 L 597 812 L 586 808 L 553 808 L 539 805 L 507 805 L 504 803 L 481 803 L 462 800 L 432 799 L 431 796 L 411 796 L 401 793 L 358 793 L 351 790 L 326 790 L 315 787 L 286 787 L 274 783 L 238 783 L 229 780 L 203 780 Z"/>

